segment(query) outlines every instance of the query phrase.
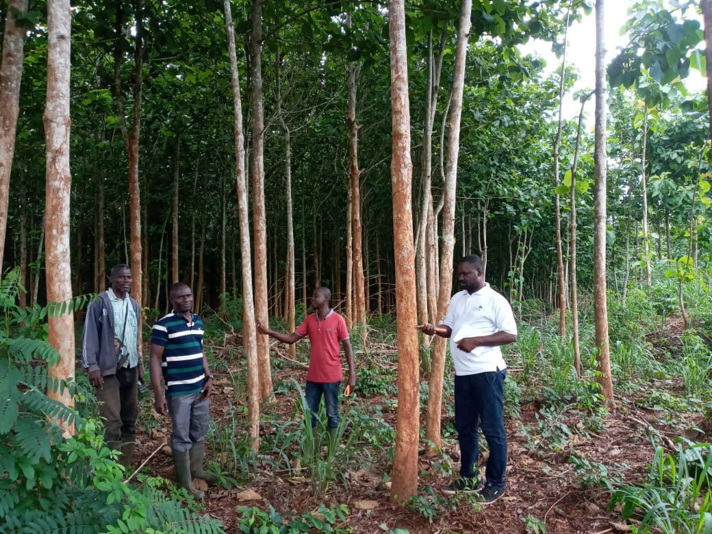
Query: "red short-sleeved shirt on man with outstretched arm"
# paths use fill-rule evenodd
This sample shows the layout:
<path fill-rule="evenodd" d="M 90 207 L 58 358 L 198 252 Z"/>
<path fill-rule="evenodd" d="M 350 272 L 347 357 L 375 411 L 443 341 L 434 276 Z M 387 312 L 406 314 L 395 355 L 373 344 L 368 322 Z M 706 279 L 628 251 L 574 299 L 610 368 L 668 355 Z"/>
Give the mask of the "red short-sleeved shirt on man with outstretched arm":
<path fill-rule="evenodd" d="M 344 377 L 339 343 L 349 338 L 344 318 L 334 310 L 329 310 L 323 320 L 312 313 L 297 327 L 295 333 L 301 337 L 308 335 L 311 343 L 308 381 L 321 384 L 339 382 Z"/>

